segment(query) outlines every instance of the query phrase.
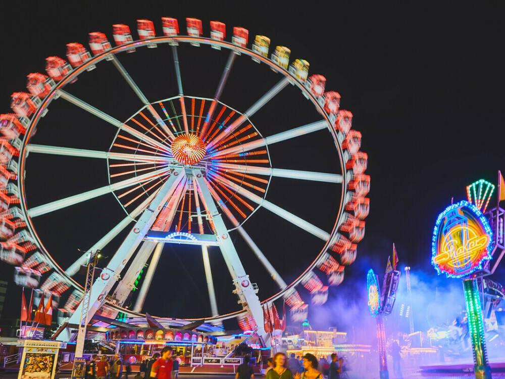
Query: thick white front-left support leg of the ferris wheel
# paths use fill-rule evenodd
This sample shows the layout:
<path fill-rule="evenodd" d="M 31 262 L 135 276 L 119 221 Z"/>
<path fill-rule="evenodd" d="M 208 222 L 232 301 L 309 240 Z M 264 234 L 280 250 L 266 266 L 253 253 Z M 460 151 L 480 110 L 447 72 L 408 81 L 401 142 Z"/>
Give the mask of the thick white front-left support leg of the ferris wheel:
<path fill-rule="evenodd" d="M 104 305 L 106 302 L 106 295 L 109 294 L 109 291 L 118 280 L 121 271 L 123 271 L 134 251 L 142 242 L 150 227 L 153 225 L 161 208 L 167 202 L 168 197 L 174 192 L 176 186 L 184 177 L 184 170 L 180 168 L 170 175 L 167 181 L 160 188 L 160 191 L 154 200 L 142 212 L 142 215 L 139 217 L 137 222 L 135 222 L 135 225 L 130 230 L 114 256 L 111 258 L 107 267 L 105 267 L 102 271 L 103 274 L 94 281 L 89 299 L 89 311 L 86 322 L 89 322 L 95 312 Z M 79 314 L 81 312 L 81 307 L 82 302 L 79 304 L 74 314 L 70 316 L 70 324 L 76 323 L 76 319 L 79 318 Z"/>

